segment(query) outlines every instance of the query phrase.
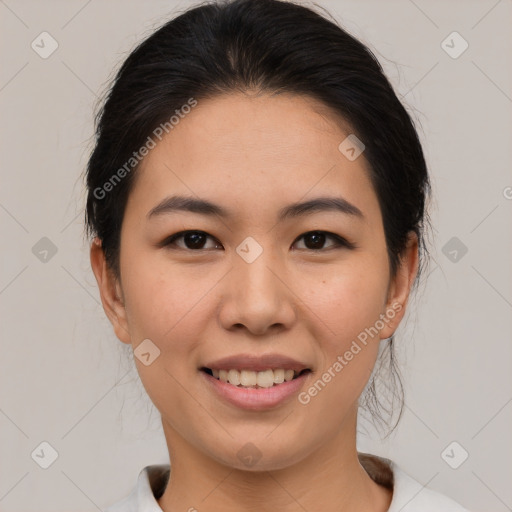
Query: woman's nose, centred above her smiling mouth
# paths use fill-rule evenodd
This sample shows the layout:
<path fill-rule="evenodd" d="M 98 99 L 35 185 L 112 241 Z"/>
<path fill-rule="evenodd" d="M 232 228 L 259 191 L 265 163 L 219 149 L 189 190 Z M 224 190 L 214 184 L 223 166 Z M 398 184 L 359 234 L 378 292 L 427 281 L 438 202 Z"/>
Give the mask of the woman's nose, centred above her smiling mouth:
<path fill-rule="evenodd" d="M 255 336 L 276 334 L 296 321 L 296 300 L 283 265 L 263 250 L 252 263 L 234 255 L 233 269 L 223 280 L 218 310 L 222 327 Z"/>

